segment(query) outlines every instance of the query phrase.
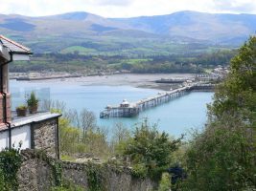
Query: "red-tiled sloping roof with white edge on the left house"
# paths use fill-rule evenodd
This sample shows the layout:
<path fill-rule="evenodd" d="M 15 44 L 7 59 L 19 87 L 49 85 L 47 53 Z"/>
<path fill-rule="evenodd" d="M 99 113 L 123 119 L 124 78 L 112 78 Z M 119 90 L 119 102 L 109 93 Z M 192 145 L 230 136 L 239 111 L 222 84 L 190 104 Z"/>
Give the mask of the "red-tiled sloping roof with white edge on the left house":
<path fill-rule="evenodd" d="M 24 47 L 3 35 L 0 35 L 0 43 L 2 43 L 4 47 L 7 47 L 11 53 L 32 54 L 31 50 L 27 47 Z"/>

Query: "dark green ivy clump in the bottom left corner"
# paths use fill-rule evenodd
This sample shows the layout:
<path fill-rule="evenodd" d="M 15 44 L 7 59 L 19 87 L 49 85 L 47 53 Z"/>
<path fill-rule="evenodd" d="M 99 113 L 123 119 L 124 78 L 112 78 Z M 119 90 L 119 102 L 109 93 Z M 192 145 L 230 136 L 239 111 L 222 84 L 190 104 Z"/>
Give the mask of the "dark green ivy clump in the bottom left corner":
<path fill-rule="evenodd" d="M 0 190 L 18 189 L 17 172 L 21 165 L 19 149 L 5 149 L 0 152 Z"/>

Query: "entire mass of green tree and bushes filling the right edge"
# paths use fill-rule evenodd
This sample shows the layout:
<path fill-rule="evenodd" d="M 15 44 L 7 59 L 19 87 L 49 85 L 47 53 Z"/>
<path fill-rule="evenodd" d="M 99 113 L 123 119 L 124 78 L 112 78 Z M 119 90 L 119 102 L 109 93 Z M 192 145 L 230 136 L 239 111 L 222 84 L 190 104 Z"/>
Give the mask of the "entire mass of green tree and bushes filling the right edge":
<path fill-rule="evenodd" d="M 255 60 L 252 36 L 232 59 L 231 72 L 209 106 L 209 123 L 186 152 L 188 180 L 181 190 L 255 190 Z"/>

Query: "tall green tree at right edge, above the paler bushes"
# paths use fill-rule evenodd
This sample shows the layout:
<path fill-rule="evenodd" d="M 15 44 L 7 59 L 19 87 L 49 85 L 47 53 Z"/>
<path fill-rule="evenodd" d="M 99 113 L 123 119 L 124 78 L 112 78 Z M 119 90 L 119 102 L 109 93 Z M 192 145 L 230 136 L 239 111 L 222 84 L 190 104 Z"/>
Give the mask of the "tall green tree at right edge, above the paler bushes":
<path fill-rule="evenodd" d="M 228 114 L 256 125 L 256 36 L 251 36 L 231 60 L 228 78 L 219 86 L 211 112 Z"/>

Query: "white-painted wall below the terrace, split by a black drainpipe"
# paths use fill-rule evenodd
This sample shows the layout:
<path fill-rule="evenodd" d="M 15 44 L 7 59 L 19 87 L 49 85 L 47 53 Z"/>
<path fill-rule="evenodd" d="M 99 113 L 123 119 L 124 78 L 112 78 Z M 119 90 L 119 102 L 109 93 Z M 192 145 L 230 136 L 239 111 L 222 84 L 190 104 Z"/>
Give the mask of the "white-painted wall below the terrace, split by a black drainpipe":
<path fill-rule="evenodd" d="M 24 125 L 12 128 L 12 144 L 16 148 L 22 142 L 21 149 L 31 148 L 31 127 Z M 9 146 L 9 131 L 0 132 L 0 150 Z"/>

